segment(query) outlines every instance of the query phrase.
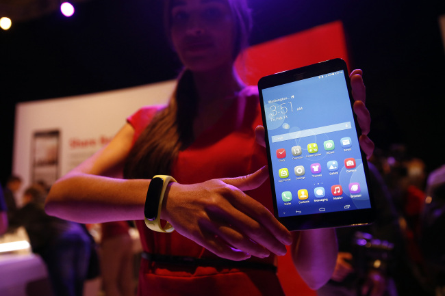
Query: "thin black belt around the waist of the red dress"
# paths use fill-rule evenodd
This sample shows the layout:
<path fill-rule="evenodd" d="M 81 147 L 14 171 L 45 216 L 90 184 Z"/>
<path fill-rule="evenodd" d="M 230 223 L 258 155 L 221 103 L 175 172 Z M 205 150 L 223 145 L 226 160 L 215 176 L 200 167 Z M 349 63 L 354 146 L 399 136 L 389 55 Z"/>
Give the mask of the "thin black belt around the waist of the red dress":
<path fill-rule="evenodd" d="M 186 265 L 188 267 L 228 267 L 228 268 L 249 268 L 249 269 L 264 269 L 277 272 L 277 267 L 268 263 L 259 263 L 252 261 L 232 261 L 223 258 L 194 258 L 188 256 L 170 256 L 162 254 L 150 254 L 142 252 L 142 258 L 155 262 L 166 263 L 172 265 Z"/>

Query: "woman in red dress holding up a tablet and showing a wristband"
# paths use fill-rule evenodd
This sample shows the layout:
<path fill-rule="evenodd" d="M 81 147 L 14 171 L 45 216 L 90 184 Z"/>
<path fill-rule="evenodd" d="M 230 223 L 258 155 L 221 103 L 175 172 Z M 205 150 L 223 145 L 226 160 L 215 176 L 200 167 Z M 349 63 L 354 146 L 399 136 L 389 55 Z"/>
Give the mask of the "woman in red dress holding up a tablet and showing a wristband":
<path fill-rule="evenodd" d="M 137 222 L 145 255 L 139 295 L 283 295 L 275 255 L 291 244 L 303 280 L 325 284 L 335 230 L 291 234 L 268 210 L 258 94 L 233 70 L 250 29 L 245 1 L 166 1 L 166 28 L 185 66 L 173 98 L 130 116 L 110 144 L 58 180 L 48 213 L 84 223 L 141 220 L 150 179 L 171 175 L 177 182 L 168 184 L 160 217 L 176 231 Z M 351 81 L 370 154 L 361 70 Z"/>

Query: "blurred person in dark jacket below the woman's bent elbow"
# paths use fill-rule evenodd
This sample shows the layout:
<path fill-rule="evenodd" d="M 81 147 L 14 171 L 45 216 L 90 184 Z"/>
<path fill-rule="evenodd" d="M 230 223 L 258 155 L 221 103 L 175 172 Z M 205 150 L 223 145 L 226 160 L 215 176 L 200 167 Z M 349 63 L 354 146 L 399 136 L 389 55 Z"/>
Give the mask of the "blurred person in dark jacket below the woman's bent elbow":
<path fill-rule="evenodd" d="M 90 257 L 90 237 L 75 222 L 47 215 L 41 185 L 23 193 L 24 206 L 10 219 L 12 229 L 24 226 L 32 252 L 42 257 L 55 296 L 82 296 Z"/>

